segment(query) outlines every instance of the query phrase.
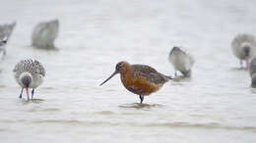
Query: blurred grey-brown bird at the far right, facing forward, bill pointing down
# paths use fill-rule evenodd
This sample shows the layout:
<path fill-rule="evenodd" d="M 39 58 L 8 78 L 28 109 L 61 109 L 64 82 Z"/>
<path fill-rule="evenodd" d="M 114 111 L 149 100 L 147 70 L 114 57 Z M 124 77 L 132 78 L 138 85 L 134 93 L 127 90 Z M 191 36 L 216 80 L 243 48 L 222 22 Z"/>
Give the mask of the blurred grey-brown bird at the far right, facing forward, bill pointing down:
<path fill-rule="evenodd" d="M 232 51 L 236 58 L 240 60 L 242 68 L 242 61 L 246 61 L 246 69 L 249 68 L 249 60 L 256 56 L 256 38 L 251 34 L 238 34 L 231 42 Z"/>

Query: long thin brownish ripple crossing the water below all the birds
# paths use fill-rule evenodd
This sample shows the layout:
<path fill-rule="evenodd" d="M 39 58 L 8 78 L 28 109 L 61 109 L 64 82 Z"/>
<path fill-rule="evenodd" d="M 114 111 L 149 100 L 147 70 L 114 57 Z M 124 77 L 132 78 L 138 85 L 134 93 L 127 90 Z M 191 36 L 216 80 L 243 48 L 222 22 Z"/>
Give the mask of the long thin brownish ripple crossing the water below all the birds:
<path fill-rule="evenodd" d="M 87 121 L 78 119 L 41 119 L 41 120 L 0 120 L 6 123 L 58 123 L 58 124 L 70 124 L 70 125 L 128 125 L 128 126 L 140 126 L 140 127 L 167 127 L 167 128 L 205 128 L 205 129 L 225 129 L 225 130 L 245 130 L 256 132 L 256 126 L 235 126 L 224 125 L 216 122 L 210 123 L 190 123 L 190 122 L 165 122 L 165 123 L 137 123 L 137 122 L 111 122 L 111 121 Z M 1 130 L 0 130 L 1 131 Z M 2 131 L 5 131 L 2 129 Z"/>

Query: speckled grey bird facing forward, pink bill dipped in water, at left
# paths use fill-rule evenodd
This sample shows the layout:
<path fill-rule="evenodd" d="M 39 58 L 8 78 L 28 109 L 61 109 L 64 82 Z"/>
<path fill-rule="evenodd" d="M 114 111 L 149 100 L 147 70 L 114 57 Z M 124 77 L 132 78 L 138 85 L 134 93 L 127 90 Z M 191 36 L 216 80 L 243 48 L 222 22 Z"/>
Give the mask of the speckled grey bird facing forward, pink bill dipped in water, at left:
<path fill-rule="evenodd" d="M 26 88 L 28 101 L 30 100 L 29 88 L 32 88 L 32 97 L 34 89 L 43 82 L 45 70 L 36 60 L 22 60 L 14 68 L 16 81 L 21 85 L 22 91 L 20 98 L 23 97 L 23 90 Z"/>

